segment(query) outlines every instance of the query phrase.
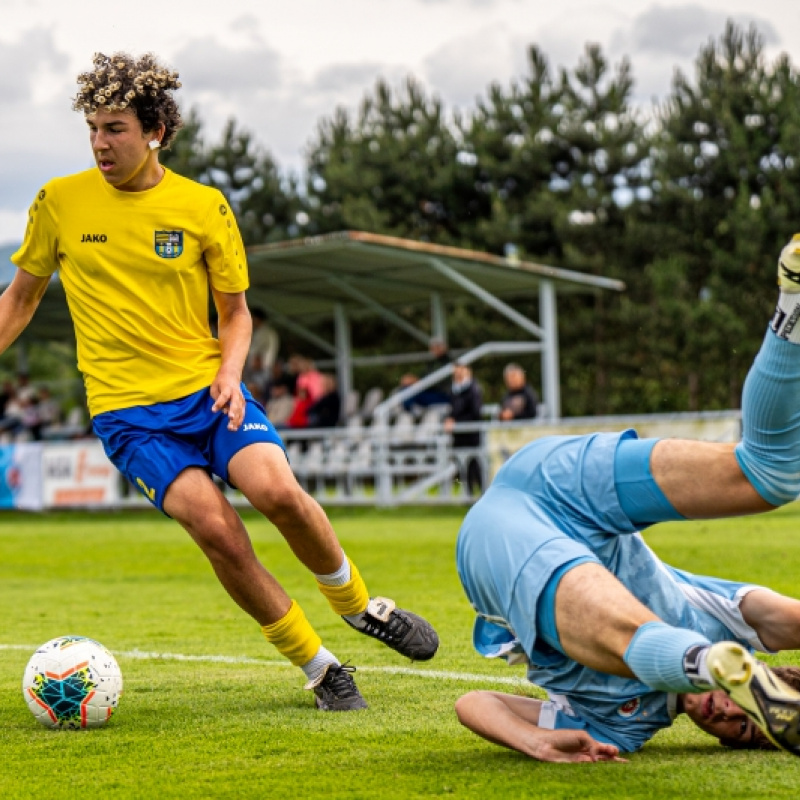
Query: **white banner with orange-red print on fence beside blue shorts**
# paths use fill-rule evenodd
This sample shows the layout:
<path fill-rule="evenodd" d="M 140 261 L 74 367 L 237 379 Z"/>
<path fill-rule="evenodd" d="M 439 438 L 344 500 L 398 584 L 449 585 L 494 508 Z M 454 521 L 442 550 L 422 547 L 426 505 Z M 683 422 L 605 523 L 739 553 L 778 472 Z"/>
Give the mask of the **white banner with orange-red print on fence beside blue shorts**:
<path fill-rule="evenodd" d="M 115 506 L 120 476 L 97 441 L 48 444 L 42 453 L 45 508 Z"/>

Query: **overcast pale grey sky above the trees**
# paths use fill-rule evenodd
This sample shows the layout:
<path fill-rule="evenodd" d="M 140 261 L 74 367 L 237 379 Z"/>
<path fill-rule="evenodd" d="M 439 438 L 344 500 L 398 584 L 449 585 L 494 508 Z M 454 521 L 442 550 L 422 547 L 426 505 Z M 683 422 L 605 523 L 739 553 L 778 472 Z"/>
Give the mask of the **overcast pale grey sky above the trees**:
<path fill-rule="evenodd" d="M 379 76 L 399 85 L 413 74 L 468 109 L 490 82 L 525 73 L 529 44 L 573 67 L 597 42 L 613 63 L 630 57 L 649 107 L 728 18 L 800 65 L 798 0 L 0 0 L 0 244 L 21 239 L 40 184 L 92 163 L 70 98 L 97 50 L 157 53 L 180 72 L 177 97 L 197 107 L 207 139 L 234 116 L 300 170 L 317 120 L 355 108 Z"/>

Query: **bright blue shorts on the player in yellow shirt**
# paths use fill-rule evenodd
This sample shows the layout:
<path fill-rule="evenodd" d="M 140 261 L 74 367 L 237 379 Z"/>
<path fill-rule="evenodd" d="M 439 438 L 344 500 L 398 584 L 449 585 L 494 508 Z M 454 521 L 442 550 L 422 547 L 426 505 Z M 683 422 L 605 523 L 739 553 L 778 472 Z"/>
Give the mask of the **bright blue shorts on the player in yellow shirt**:
<path fill-rule="evenodd" d="M 243 448 L 266 442 L 285 450 L 263 407 L 242 384 L 245 414 L 236 431 L 228 417 L 213 413 L 209 389 L 179 400 L 107 411 L 92 420 L 114 466 L 147 499 L 164 511 L 167 489 L 188 467 L 201 467 L 228 485 L 228 463 Z"/>

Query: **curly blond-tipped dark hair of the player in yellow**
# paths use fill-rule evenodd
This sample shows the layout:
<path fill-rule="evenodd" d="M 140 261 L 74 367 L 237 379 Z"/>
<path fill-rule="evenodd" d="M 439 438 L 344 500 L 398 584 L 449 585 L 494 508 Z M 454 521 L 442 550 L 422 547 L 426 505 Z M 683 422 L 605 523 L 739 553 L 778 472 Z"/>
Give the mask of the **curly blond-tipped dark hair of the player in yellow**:
<path fill-rule="evenodd" d="M 94 114 L 98 108 L 109 111 L 130 109 L 149 133 L 164 123 L 161 147 L 166 149 L 183 126 L 178 105 L 172 96 L 180 88 L 178 73 L 159 64 L 152 53 L 134 58 L 128 53 L 107 56 L 95 53 L 94 69 L 78 75 L 78 94 L 72 102 L 75 111 Z"/>

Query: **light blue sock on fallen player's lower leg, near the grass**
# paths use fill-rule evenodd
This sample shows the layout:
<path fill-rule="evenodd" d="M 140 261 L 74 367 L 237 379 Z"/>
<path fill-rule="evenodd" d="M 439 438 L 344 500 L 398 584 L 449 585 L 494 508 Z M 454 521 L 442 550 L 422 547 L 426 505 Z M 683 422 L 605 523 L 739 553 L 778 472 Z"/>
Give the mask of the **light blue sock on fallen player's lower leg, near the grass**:
<path fill-rule="evenodd" d="M 660 692 L 696 692 L 698 687 L 686 674 L 684 656 L 692 647 L 710 645 L 699 633 L 673 628 L 665 622 L 646 622 L 633 635 L 623 660 L 633 674 Z"/>

